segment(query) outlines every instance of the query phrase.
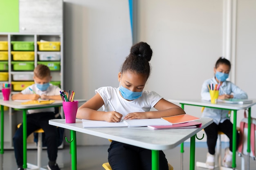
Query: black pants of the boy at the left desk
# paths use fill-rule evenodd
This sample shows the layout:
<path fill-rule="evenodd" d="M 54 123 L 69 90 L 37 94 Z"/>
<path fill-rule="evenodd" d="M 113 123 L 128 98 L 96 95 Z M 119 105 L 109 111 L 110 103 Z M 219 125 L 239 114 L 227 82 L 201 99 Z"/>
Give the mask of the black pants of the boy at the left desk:
<path fill-rule="evenodd" d="M 39 128 L 45 131 L 47 154 L 49 161 L 56 161 L 58 152 L 58 132 L 56 126 L 49 125 L 50 119 L 56 119 L 55 113 L 33 113 L 27 115 L 27 137 Z M 18 166 L 23 164 L 23 124 L 16 130 L 13 137 L 15 158 Z"/>

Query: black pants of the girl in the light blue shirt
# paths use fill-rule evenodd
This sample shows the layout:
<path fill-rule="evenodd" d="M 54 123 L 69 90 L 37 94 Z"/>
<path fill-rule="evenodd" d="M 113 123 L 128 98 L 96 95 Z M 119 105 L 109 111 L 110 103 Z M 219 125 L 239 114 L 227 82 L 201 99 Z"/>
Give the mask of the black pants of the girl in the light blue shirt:
<path fill-rule="evenodd" d="M 229 119 L 225 120 L 223 123 L 216 124 L 212 123 L 206 128 L 204 128 L 204 131 L 207 135 L 207 146 L 208 146 L 208 152 L 211 155 L 215 154 L 215 147 L 216 147 L 216 142 L 218 139 L 218 130 L 222 131 L 227 135 L 229 138 L 229 150 L 232 151 L 232 142 L 233 142 L 233 124 Z M 236 149 L 238 148 L 239 144 L 239 133 L 236 131 Z"/>

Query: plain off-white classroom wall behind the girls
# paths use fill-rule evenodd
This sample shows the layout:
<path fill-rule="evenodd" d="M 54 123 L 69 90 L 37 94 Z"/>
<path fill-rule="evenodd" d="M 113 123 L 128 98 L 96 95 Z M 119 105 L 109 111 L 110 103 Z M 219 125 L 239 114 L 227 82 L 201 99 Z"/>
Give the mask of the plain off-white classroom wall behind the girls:
<path fill-rule="evenodd" d="M 137 42 L 148 42 L 153 49 L 146 89 L 165 99 L 200 98 L 202 82 L 213 77 L 214 64 L 223 52 L 223 1 L 137 1 Z M 90 99 L 100 86 L 119 84 L 117 73 L 132 45 L 128 0 L 64 2 L 65 88 L 79 91 L 76 98 Z M 255 9 L 256 1 L 238 0 L 236 64 L 232 67 L 236 68 L 235 83 L 249 98 L 256 98 Z M 185 106 L 185 110 L 201 115 L 200 108 Z M 109 143 L 79 134 L 78 144 Z"/>

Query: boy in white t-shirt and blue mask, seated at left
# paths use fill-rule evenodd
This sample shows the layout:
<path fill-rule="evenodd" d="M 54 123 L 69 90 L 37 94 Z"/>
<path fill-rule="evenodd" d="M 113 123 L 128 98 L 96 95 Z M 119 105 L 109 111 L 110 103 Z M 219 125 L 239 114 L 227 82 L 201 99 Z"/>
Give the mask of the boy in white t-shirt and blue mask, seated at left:
<path fill-rule="evenodd" d="M 61 100 L 58 86 L 49 84 L 52 79 L 51 71 L 45 65 L 38 64 L 34 69 L 34 82 L 18 94 L 11 96 L 12 100 L 38 100 L 38 99 L 52 99 Z M 58 152 L 58 131 L 55 126 L 49 125 L 50 119 L 56 119 L 54 108 L 41 108 L 28 110 L 27 115 L 27 136 L 39 128 L 43 128 L 45 132 L 45 140 L 47 144 L 47 154 L 49 162 L 47 168 L 49 170 L 60 170 L 56 163 Z M 57 114 L 58 116 L 58 114 Z M 23 125 L 23 124 L 22 124 Z M 13 137 L 13 146 L 15 152 L 16 163 L 18 170 L 23 170 L 23 132 L 22 127 L 18 128 Z"/>

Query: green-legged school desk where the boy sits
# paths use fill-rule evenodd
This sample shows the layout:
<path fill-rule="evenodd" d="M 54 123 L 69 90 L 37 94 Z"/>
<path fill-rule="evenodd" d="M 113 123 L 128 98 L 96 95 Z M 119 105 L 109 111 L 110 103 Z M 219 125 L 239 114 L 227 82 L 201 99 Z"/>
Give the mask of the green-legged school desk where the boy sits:
<path fill-rule="evenodd" d="M 79 102 L 86 102 L 84 99 L 79 99 Z M 16 108 L 22 110 L 23 115 L 23 168 L 27 168 L 27 110 L 38 109 L 38 108 L 49 108 L 49 107 L 59 107 L 62 106 L 62 100 L 56 100 L 52 104 L 21 104 L 22 102 L 16 101 L 3 101 L 0 99 L 0 109 L 1 109 L 1 144 L 0 144 L 0 169 L 3 169 L 3 154 L 4 154 L 4 106 L 10 108 Z"/>

